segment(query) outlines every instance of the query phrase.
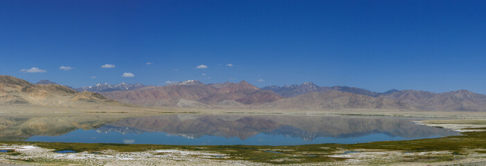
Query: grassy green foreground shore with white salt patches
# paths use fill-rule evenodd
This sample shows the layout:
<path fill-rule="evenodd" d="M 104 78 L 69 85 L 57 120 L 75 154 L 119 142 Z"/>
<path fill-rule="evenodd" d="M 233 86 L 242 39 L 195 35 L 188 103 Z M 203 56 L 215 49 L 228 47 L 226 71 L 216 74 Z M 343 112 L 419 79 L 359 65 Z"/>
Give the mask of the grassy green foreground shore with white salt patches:
<path fill-rule="evenodd" d="M 415 118 L 417 118 L 415 116 Z M 0 163 L 21 165 L 451 165 L 486 163 L 486 120 L 421 120 L 462 136 L 293 146 L 125 145 L 0 141 Z M 77 153 L 58 154 L 53 151 Z M 52 157 L 51 157 L 52 156 Z"/>

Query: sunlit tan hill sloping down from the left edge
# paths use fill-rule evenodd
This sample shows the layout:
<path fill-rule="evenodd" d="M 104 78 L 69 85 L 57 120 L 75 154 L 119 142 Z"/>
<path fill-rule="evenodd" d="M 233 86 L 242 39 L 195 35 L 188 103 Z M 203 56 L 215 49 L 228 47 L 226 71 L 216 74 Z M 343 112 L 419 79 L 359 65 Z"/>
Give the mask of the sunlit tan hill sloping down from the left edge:
<path fill-rule="evenodd" d="M 100 107 L 123 105 L 97 93 L 78 93 L 59 84 L 31 84 L 16 77 L 0 75 L 1 105 L 45 105 L 62 107 Z"/>

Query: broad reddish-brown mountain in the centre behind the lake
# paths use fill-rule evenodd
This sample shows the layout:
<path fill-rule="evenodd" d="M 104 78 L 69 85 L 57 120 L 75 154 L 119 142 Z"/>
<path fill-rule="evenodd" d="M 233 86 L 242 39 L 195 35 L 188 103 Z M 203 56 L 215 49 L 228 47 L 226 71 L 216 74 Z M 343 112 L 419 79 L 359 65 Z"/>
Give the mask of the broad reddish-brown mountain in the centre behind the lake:
<path fill-rule="evenodd" d="M 272 91 L 261 91 L 257 86 L 242 81 L 237 84 L 203 84 L 195 80 L 167 86 L 148 86 L 134 91 L 102 92 L 107 98 L 132 104 L 169 107 L 208 107 L 206 104 L 224 104 L 236 100 L 243 104 L 273 102 L 281 98 Z"/>

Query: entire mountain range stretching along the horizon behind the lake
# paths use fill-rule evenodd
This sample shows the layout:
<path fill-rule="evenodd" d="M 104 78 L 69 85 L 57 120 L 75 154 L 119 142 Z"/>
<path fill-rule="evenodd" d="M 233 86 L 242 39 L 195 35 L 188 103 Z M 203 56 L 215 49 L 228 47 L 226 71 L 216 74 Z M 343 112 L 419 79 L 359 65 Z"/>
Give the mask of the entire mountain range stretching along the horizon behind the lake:
<path fill-rule="evenodd" d="M 467 90 L 432 93 L 391 89 L 377 93 L 349 86 L 318 86 L 312 82 L 259 89 L 245 81 L 204 84 L 198 80 L 187 80 L 166 86 L 124 82 L 96 84 L 77 89 L 83 91 L 77 92 L 67 86 L 51 84 L 53 82 L 49 80 L 38 83 L 1 76 L 0 104 L 69 105 L 73 100 L 78 104 L 114 104 L 116 100 L 128 104 L 188 108 L 486 111 L 486 95 Z"/>

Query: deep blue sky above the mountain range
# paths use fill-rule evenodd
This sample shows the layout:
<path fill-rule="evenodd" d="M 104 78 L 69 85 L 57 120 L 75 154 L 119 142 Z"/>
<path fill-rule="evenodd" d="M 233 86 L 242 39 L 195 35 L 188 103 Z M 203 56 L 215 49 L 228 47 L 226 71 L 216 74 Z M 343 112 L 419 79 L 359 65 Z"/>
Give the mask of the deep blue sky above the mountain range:
<path fill-rule="evenodd" d="M 246 80 L 486 93 L 485 55 L 486 1 L 0 1 L 0 75 L 74 87 Z"/>

